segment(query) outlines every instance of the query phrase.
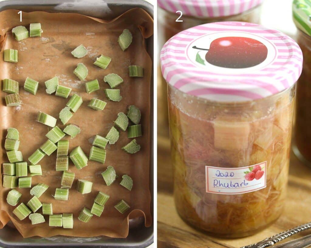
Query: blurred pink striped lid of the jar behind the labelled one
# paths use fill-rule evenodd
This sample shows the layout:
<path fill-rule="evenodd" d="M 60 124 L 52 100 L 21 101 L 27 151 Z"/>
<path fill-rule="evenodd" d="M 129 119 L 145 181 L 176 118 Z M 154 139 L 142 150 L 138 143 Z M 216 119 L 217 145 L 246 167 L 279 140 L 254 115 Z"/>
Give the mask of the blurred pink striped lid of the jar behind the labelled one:
<path fill-rule="evenodd" d="M 263 0 L 158 0 L 158 6 L 169 12 L 182 11 L 188 16 L 212 18 L 238 15 L 262 2 Z"/>

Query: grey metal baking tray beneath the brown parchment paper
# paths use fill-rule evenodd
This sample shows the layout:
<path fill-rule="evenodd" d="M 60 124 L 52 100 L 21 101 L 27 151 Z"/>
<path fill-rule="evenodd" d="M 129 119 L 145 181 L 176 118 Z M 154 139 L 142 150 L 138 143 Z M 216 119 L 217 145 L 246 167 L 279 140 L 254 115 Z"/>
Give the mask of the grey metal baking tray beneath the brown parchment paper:
<path fill-rule="evenodd" d="M 153 6 L 144 0 L 9 0 L 0 2 L 0 11 L 16 9 L 25 12 L 46 11 L 78 13 L 105 20 L 111 20 L 129 9 L 140 7 L 153 17 Z M 16 15 L 18 15 L 16 13 Z M 147 52 L 153 61 L 153 36 L 146 40 Z M 151 146 L 150 146 L 150 192 L 151 214 L 153 215 L 153 64 L 151 75 Z M 153 224 L 146 228 L 143 220 L 130 222 L 127 238 L 109 238 L 105 236 L 91 238 L 77 238 L 55 236 L 49 238 L 23 238 L 16 228 L 9 224 L 0 230 L 0 246 L 3 248 L 15 247 L 137 247 L 143 248 L 153 243 Z"/>

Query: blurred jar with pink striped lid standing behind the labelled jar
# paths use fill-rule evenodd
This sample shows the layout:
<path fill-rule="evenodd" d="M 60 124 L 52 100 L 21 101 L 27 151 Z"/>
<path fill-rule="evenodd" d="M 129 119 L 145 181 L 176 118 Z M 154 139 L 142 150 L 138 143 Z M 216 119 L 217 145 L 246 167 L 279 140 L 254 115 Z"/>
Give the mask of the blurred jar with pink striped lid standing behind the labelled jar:
<path fill-rule="evenodd" d="M 178 6 L 176 0 L 158 0 L 158 46 L 163 47 L 169 38 L 183 30 L 205 23 L 244 21 L 259 24 L 262 0 L 253 1 L 251 4 L 249 2 L 251 1 L 228 1 L 227 5 L 221 5 L 224 3 L 219 1 L 214 3 L 215 6 L 210 6 L 211 3 L 201 1 L 199 4 L 202 4 L 207 11 L 205 13 L 200 11 L 191 13 L 189 10 L 195 8 L 195 1 L 187 0 L 184 1 L 183 6 Z M 172 6 L 176 6 L 174 10 Z M 217 9 L 223 10 L 217 11 Z M 225 11 L 226 9 L 228 11 Z M 176 22 L 180 16 L 179 13 L 175 13 L 177 10 L 183 11 L 183 15 L 180 18 L 180 20 L 183 20 L 182 22 Z M 158 75 L 158 133 L 168 136 L 167 86 L 165 79 L 161 76 L 160 64 L 158 64 Z"/>

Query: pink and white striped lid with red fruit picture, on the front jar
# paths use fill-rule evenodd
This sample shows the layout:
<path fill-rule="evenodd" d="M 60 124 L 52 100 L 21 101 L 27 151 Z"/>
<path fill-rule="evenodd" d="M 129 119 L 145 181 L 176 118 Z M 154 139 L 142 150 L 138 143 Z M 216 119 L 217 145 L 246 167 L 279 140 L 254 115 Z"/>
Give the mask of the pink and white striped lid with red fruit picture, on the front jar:
<path fill-rule="evenodd" d="M 184 30 L 160 53 L 169 85 L 217 102 L 250 101 L 294 85 L 302 52 L 289 36 L 247 22 L 215 22 Z"/>

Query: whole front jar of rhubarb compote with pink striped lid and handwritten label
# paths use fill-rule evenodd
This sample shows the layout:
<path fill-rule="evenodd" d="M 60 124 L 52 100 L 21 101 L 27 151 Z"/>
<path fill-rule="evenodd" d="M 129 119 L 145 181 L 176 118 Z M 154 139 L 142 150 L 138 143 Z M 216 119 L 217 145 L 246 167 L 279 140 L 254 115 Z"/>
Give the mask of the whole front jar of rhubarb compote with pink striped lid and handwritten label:
<path fill-rule="evenodd" d="M 161 51 L 176 209 L 211 235 L 248 236 L 284 205 L 302 54 L 290 37 L 255 24 L 186 31 Z"/>

